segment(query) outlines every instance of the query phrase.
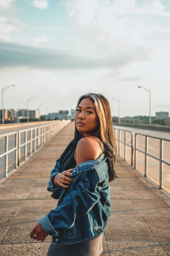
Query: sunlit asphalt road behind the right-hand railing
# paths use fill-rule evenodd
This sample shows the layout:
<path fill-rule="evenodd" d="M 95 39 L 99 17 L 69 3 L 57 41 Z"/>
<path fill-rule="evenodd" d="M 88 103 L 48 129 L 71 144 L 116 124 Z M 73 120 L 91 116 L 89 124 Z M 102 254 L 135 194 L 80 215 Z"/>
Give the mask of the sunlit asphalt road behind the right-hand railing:
<path fill-rule="evenodd" d="M 165 138 L 170 140 L 170 132 L 155 131 L 155 130 L 145 130 L 137 128 L 128 127 L 116 127 L 119 129 L 134 131 L 134 133 L 142 133 L 150 136 L 155 136 L 159 138 Z M 116 138 L 118 139 L 119 134 L 116 130 Z M 124 141 L 124 132 L 121 132 L 121 141 Z M 131 144 L 131 133 L 127 132 L 127 143 Z M 145 151 L 145 136 L 138 135 L 137 148 Z M 119 144 L 117 141 L 117 152 L 119 151 Z M 160 158 L 160 139 L 149 138 L 148 140 L 148 153 Z M 120 156 L 124 158 L 124 144 L 121 143 Z M 163 142 L 163 160 L 170 162 L 170 141 Z M 127 161 L 131 162 L 131 148 L 127 146 Z M 137 169 L 144 173 L 145 168 L 145 154 L 137 151 Z M 160 162 L 152 157 L 148 156 L 148 176 L 159 184 L 159 170 Z M 170 166 L 163 164 L 163 187 L 170 192 Z"/>

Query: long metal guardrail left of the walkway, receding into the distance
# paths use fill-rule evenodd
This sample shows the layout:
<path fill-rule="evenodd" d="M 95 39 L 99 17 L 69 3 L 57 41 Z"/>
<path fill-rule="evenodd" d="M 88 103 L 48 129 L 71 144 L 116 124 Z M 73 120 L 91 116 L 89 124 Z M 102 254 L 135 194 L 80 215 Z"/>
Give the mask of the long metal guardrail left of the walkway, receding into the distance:
<path fill-rule="evenodd" d="M 5 175 L 8 177 L 8 155 L 15 152 L 15 168 L 21 164 L 21 147 L 24 147 L 25 156 L 24 160 L 27 161 L 27 145 L 30 144 L 30 157 L 33 153 L 39 150 L 43 145 L 45 145 L 58 131 L 60 131 L 64 126 L 66 126 L 71 120 L 56 122 L 48 125 L 37 126 L 34 128 L 29 128 L 25 130 L 20 130 L 18 132 L 11 132 L 7 134 L 0 135 L 0 138 L 5 137 L 5 153 L 0 155 L 0 159 L 5 156 Z M 30 139 L 27 140 L 28 132 L 30 132 Z M 21 144 L 22 133 L 25 135 L 25 141 Z M 34 136 L 33 136 L 34 134 Z M 9 136 L 15 136 L 15 147 L 8 150 L 9 148 Z M 32 143 L 34 142 L 34 148 Z"/>

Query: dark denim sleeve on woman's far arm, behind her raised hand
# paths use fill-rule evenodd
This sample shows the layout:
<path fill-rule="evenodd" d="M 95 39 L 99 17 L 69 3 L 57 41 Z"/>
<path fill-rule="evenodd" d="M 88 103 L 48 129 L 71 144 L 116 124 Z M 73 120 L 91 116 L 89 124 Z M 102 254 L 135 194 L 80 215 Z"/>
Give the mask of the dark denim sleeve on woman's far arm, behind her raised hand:
<path fill-rule="evenodd" d="M 51 197 L 53 197 L 55 199 L 58 199 L 60 197 L 60 194 L 61 194 L 62 189 L 63 189 L 63 187 L 61 187 L 60 185 L 57 186 L 54 183 L 54 178 L 55 178 L 57 173 L 62 173 L 62 168 L 60 166 L 60 159 L 56 160 L 55 167 L 51 171 L 49 185 L 48 185 L 48 188 L 47 188 L 48 191 L 53 193 L 51 195 Z"/>

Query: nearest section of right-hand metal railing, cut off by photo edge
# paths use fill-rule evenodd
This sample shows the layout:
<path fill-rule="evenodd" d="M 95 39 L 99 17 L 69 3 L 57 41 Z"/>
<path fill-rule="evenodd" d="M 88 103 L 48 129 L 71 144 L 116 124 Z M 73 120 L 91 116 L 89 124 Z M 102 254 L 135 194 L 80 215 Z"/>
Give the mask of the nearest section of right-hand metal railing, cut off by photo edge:
<path fill-rule="evenodd" d="M 142 135 L 145 136 L 145 151 L 137 148 L 137 138 L 138 135 Z M 151 155 L 148 153 L 148 138 L 153 138 L 153 139 L 158 139 L 160 141 L 160 152 L 159 152 L 159 158 Z M 162 189 L 163 188 L 163 163 L 167 164 L 170 166 L 170 162 L 167 162 L 165 160 L 163 160 L 163 141 L 168 141 L 170 142 L 170 140 L 165 139 L 165 138 L 160 138 L 160 137 L 155 137 L 155 136 L 151 136 L 151 135 L 146 135 L 143 133 L 135 133 L 135 156 L 134 156 L 134 169 L 136 169 L 136 162 L 137 162 L 137 151 L 145 154 L 145 173 L 144 173 L 144 177 L 148 177 L 148 156 L 156 159 L 159 161 L 159 188 Z M 154 180 L 155 181 L 155 180 Z M 155 181 L 156 182 L 156 181 Z M 156 182 L 157 183 L 157 182 Z"/>

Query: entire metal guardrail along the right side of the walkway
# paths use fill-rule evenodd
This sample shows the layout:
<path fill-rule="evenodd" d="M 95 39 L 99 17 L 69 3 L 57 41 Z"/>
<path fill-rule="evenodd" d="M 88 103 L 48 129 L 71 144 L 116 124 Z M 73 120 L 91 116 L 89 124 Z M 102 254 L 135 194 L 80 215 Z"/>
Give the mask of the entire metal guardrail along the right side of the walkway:
<path fill-rule="evenodd" d="M 119 131 L 119 137 L 116 138 L 117 135 L 117 130 Z M 124 141 L 121 140 L 121 132 L 124 132 Z M 127 132 L 131 133 L 131 144 L 128 144 L 126 142 L 127 140 Z M 134 169 L 136 168 L 136 163 L 137 163 L 137 151 L 145 154 L 145 161 L 144 161 L 144 177 L 149 177 L 148 176 L 148 156 L 152 157 L 156 160 L 159 161 L 159 184 L 157 183 L 157 181 L 153 178 L 151 178 L 155 183 L 157 183 L 159 185 L 159 189 L 163 189 L 163 163 L 167 164 L 168 166 L 170 166 L 170 162 L 167 162 L 165 160 L 163 160 L 163 142 L 164 141 L 168 141 L 170 142 L 169 139 L 165 139 L 165 138 L 160 138 L 160 137 L 155 137 L 155 136 L 151 136 L 151 135 L 147 135 L 147 134 L 143 134 L 143 133 L 135 133 L 135 143 L 134 143 L 134 132 L 133 131 L 129 131 L 129 130 L 124 130 L 124 129 L 119 129 L 119 128 L 114 128 L 114 133 L 115 133 L 115 140 L 118 141 L 118 145 L 119 145 L 119 149 L 118 149 L 118 156 L 123 158 L 124 161 L 126 161 L 126 154 L 127 154 L 127 148 L 126 146 L 130 146 L 131 147 L 131 166 L 134 166 Z M 141 136 L 145 136 L 145 151 L 139 149 L 137 147 L 138 144 L 138 135 Z M 148 138 L 153 138 L 153 139 L 158 139 L 160 141 L 159 143 L 159 157 L 156 157 L 152 154 L 148 153 Z M 120 151 L 121 151 L 121 143 L 124 145 L 124 155 L 121 156 L 120 155 Z M 134 160 L 134 164 L 133 164 L 133 160 Z M 140 169 L 138 169 L 139 171 L 141 171 Z M 150 178 L 150 177 L 149 177 Z M 170 192 L 167 188 L 164 188 L 166 191 Z"/>

